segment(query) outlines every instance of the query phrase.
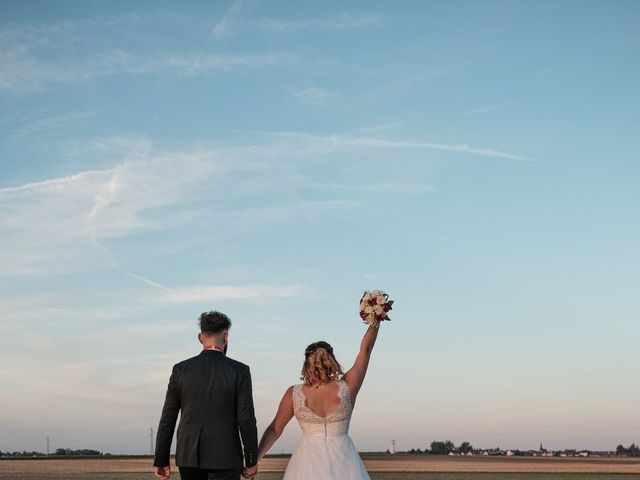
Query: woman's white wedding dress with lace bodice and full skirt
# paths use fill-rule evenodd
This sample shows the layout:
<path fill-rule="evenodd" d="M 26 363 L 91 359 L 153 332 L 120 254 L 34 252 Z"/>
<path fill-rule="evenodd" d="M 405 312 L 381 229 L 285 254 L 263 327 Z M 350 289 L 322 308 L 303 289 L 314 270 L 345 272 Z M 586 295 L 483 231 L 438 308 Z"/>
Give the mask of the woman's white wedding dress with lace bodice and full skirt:
<path fill-rule="evenodd" d="M 302 429 L 283 480 L 370 480 L 351 437 L 349 387 L 338 382 L 340 404 L 326 417 L 306 405 L 302 385 L 293 387 L 293 413 Z"/>

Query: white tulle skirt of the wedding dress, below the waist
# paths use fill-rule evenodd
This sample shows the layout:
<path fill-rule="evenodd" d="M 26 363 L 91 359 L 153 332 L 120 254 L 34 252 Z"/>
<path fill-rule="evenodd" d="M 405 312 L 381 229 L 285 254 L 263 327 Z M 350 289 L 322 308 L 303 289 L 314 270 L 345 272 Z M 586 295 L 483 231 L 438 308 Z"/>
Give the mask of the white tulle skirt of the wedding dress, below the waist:
<path fill-rule="evenodd" d="M 304 435 L 283 480 L 370 480 L 349 435 Z"/>

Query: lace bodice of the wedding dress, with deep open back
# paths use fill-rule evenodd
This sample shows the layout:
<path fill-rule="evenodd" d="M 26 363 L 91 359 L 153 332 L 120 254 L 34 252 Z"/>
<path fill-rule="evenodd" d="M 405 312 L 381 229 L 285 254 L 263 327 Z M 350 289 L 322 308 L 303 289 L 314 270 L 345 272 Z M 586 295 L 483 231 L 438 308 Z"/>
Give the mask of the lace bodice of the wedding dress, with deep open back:
<path fill-rule="evenodd" d="M 330 434 L 327 430 L 327 426 L 329 425 L 331 425 L 330 430 L 334 434 L 348 433 L 353 407 L 351 405 L 349 387 L 342 380 L 338 382 L 338 397 L 340 398 L 338 407 L 326 417 L 321 417 L 307 407 L 302 385 L 295 385 L 293 387 L 293 414 L 300 423 L 304 434 L 322 432 Z M 320 430 L 314 428 L 316 425 L 323 426 L 323 428 Z"/>

